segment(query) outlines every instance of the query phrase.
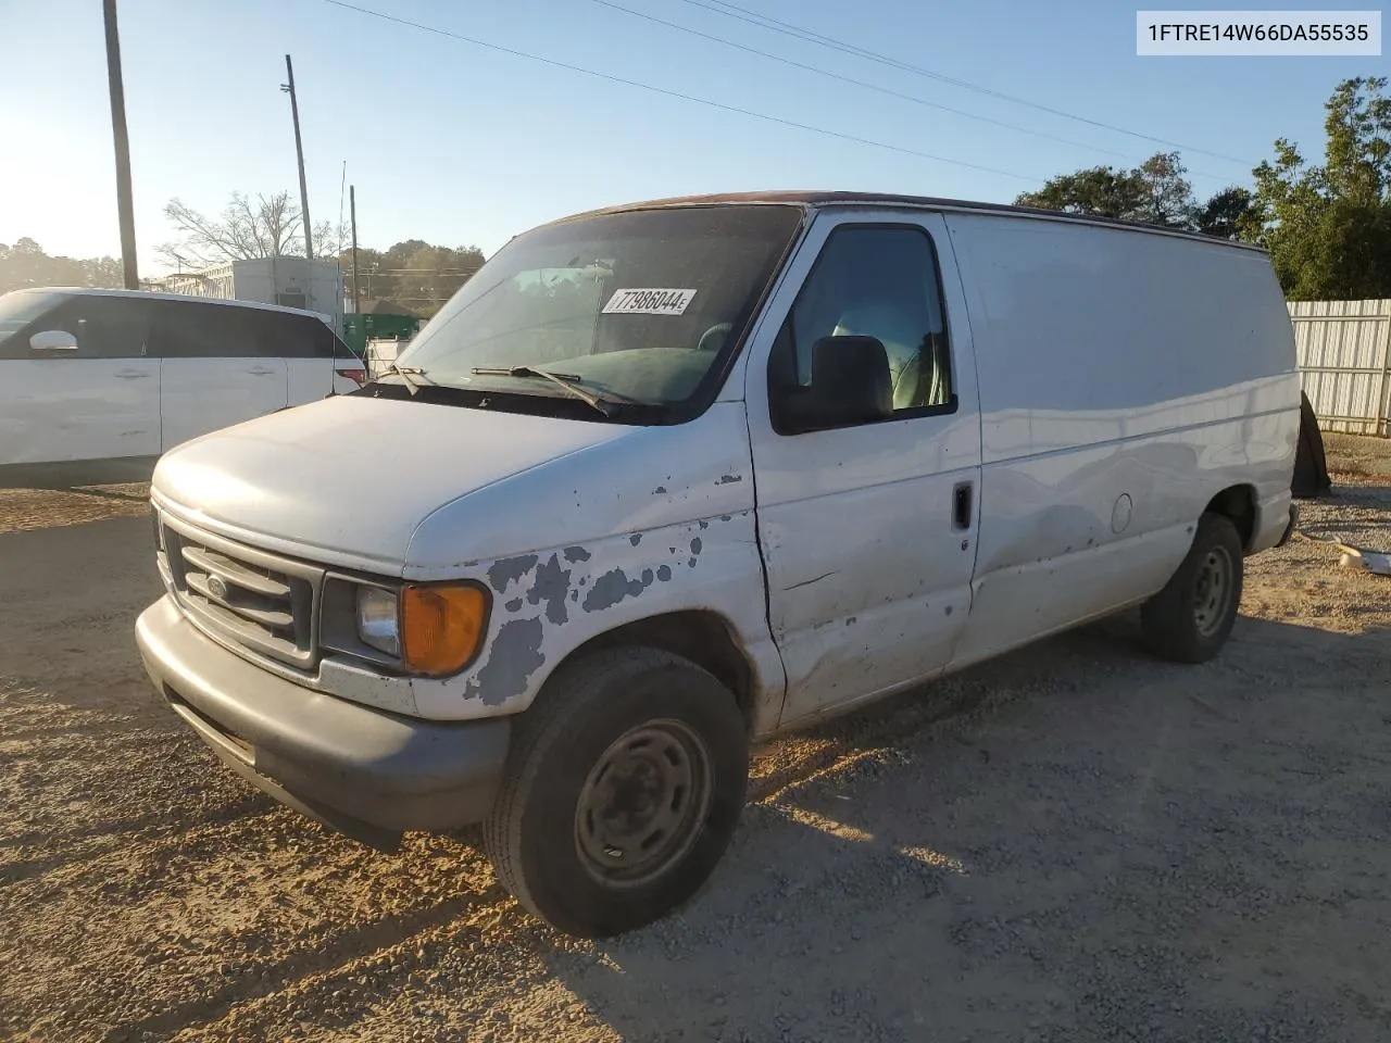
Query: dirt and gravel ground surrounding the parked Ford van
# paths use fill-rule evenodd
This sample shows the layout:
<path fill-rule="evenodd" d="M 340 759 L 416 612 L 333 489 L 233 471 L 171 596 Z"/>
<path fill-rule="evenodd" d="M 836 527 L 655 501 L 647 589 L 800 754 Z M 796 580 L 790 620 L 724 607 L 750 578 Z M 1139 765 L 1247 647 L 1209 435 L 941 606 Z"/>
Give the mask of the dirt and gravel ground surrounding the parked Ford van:
<path fill-rule="evenodd" d="M 1306 528 L 1391 549 L 1391 445 L 1328 449 Z M 1326 544 L 1210 665 L 1121 617 L 769 744 L 704 896 L 591 944 L 217 766 L 132 644 L 142 495 L 0 492 L 0 1039 L 1391 1037 L 1391 579 Z"/>

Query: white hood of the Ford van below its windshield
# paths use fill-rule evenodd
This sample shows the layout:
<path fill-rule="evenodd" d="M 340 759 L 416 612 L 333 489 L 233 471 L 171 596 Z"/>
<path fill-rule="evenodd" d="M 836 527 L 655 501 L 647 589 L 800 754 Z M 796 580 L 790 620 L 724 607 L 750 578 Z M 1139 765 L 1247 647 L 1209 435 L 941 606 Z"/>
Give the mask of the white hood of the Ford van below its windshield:
<path fill-rule="evenodd" d="M 399 574 L 437 508 L 636 430 L 339 395 L 175 446 L 152 496 L 267 549 Z"/>

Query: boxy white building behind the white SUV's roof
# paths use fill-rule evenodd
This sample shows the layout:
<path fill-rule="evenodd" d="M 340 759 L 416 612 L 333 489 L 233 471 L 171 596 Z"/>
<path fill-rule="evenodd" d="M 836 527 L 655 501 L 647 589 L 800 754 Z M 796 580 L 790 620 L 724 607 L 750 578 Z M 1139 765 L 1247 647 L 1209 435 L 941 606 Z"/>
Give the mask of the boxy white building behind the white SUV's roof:
<path fill-rule="evenodd" d="M 342 334 L 344 277 L 338 261 L 260 257 L 166 275 L 159 289 L 223 300 L 256 300 L 319 312 Z"/>

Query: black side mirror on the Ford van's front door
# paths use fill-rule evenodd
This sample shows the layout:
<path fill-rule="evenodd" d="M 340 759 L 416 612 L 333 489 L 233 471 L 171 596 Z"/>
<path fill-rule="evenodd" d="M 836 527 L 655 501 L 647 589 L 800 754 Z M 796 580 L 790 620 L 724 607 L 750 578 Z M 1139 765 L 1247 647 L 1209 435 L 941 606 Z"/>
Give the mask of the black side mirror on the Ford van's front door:
<path fill-rule="evenodd" d="M 797 431 L 869 424 L 893 416 L 889 355 L 875 337 L 822 337 L 811 346 L 811 385 L 791 394 Z"/>

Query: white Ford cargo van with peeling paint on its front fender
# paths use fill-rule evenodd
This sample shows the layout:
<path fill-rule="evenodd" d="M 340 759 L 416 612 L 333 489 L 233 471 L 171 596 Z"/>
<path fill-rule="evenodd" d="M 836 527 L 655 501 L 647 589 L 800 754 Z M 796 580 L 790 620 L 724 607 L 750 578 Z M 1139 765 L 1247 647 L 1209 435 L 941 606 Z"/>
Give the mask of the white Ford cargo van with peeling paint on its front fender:
<path fill-rule="evenodd" d="M 1132 605 L 1205 661 L 1294 524 L 1270 260 L 1173 231 L 618 207 L 512 239 L 399 363 L 163 458 L 139 647 L 255 784 L 388 847 L 483 822 L 576 935 L 696 893 L 750 743 Z"/>

